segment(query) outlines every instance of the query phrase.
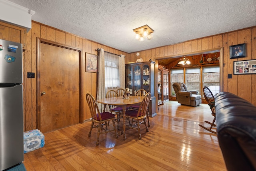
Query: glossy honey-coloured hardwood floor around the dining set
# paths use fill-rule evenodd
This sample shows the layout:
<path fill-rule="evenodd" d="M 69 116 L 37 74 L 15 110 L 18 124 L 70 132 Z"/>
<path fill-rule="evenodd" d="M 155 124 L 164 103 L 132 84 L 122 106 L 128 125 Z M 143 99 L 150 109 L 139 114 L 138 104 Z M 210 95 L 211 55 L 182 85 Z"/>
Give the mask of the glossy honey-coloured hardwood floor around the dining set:
<path fill-rule="evenodd" d="M 45 133 L 45 145 L 24 154 L 27 171 L 226 171 L 217 136 L 202 129 L 212 121 L 210 107 L 168 101 L 150 117 L 149 132 L 141 125 L 142 139 L 134 129 L 88 137 L 91 122 Z M 111 124 L 110 124 L 111 125 Z"/>

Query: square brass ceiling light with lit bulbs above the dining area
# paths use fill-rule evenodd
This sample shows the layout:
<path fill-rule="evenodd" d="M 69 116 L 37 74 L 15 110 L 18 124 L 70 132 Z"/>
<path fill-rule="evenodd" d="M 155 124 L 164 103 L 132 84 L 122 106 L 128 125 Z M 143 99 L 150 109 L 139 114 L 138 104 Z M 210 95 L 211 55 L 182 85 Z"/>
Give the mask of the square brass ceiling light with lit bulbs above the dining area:
<path fill-rule="evenodd" d="M 135 38 L 140 42 L 143 42 L 145 38 L 148 40 L 152 39 L 152 33 L 154 32 L 148 25 L 135 28 L 133 31 L 135 32 Z"/>

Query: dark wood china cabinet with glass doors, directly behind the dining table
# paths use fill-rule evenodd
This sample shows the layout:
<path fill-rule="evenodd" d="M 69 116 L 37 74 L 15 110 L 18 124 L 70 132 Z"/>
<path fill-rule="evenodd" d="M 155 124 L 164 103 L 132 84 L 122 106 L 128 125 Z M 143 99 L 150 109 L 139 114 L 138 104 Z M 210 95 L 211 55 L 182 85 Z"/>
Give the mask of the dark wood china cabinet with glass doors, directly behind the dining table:
<path fill-rule="evenodd" d="M 153 61 L 125 64 L 125 85 L 130 89 L 130 95 L 135 95 L 139 89 L 144 89 L 151 93 L 151 101 L 149 105 L 150 117 L 156 115 L 154 71 L 155 62 Z"/>

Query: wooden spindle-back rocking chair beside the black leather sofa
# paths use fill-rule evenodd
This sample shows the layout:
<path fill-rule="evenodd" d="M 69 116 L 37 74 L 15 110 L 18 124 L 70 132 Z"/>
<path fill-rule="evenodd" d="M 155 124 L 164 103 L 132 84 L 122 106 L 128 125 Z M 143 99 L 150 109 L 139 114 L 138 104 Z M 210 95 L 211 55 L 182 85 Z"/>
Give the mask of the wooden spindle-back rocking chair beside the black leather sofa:
<path fill-rule="evenodd" d="M 216 134 L 216 131 L 212 130 L 212 127 L 216 127 L 216 125 L 214 124 L 215 120 L 216 120 L 216 113 L 215 113 L 215 98 L 214 95 L 212 94 L 212 91 L 208 88 L 208 87 L 203 87 L 203 92 L 204 92 L 204 98 L 206 100 L 206 102 L 208 103 L 208 105 L 210 106 L 210 109 L 212 111 L 212 116 L 214 117 L 212 122 L 209 121 L 205 121 L 206 123 L 210 124 L 210 128 L 206 128 L 203 125 L 200 125 L 200 127 L 206 129 L 207 131 L 210 131 L 212 133 Z"/>

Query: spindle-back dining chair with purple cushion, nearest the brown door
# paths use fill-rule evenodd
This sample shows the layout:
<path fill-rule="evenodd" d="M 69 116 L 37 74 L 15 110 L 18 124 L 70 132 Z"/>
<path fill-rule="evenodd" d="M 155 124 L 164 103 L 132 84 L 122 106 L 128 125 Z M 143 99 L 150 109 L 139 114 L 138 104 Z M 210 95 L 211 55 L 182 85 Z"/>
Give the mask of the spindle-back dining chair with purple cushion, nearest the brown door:
<path fill-rule="evenodd" d="M 89 105 L 90 113 L 92 116 L 92 124 L 91 124 L 91 128 L 90 128 L 88 137 L 91 136 L 93 128 L 98 128 L 96 145 L 99 145 L 100 134 L 102 134 L 102 133 L 108 133 L 110 131 L 115 131 L 116 138 L 118 138 L 118 133 L 117 133 L 116 124 L 115 124 L 115 115 L 110 112 L 100 113 L 98 105 L 96 103 L 96 100 L 90 93 L 86 94 L 86 101 Z M 113 129 L 108 129 L 108 126 L 106 124 L 107 121 L 112 121 Z M 96 125 L 96 124 L 98 124 L 98 125 Z M 106 126 L 105 128 L 103 127 L 104 125 Z"/>

